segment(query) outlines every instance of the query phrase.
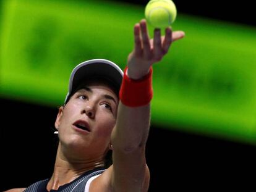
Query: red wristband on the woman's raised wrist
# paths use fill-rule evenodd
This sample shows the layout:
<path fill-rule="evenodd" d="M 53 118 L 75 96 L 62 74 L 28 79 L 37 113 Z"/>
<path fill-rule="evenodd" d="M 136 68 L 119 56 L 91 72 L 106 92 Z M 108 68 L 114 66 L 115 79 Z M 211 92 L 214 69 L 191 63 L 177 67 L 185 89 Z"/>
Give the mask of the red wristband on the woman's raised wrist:
<path fill-rule="evenodd" d="M 153 69 L 150 67 L 148 75 L 140 80 L 132 80 L 126 75 L 126 69 L 124 69 L 124 78 L 122 79 L 122 85 L 119 91 L 119 98 L 122 104 L 129 107 L 145 106 L 153 98 L 152 88 L 152 73 Z"/>

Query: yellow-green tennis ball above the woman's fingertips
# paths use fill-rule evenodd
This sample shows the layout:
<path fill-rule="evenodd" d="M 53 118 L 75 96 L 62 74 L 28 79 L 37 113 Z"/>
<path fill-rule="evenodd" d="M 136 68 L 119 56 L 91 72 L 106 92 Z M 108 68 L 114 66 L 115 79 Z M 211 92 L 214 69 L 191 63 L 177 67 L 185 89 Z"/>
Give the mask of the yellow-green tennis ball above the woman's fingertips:
<path fill-rule="evenodd" d="M 155 28 L 166 28 L 176 19 L 177 10 L 171 0 L 151 0 L 145 7 L 147 22 Z"/>

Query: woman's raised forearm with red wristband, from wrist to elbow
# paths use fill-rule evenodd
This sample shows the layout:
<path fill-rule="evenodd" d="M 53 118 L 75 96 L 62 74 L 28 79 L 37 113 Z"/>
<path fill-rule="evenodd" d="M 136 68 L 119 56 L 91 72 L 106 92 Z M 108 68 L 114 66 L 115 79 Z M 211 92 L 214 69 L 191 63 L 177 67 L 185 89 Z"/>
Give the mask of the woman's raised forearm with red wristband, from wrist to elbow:
<path fill-rule="evenodd" d="M 124 70 L 119 93 L 120 101 L 116 127 L 112 138 L 113 146 L 124 151 L 133 151 L 145 146 L 150 126 L 150 101 L 153 96 L 152 69 L 135 73 Z"/>

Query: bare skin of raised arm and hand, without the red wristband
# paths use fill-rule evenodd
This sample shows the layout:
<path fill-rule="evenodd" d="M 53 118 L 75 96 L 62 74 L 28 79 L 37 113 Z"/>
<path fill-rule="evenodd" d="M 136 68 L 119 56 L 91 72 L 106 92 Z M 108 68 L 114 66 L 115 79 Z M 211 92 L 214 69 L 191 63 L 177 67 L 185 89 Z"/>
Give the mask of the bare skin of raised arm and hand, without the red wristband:
<path fill-rule="evenodd" d="M 166 28 L 165 36 L 154 31 L 150 40 L 145 20 L 134 26 L 135 46 L 128 57 L 127 77 L 142 81 L 148 76 L 151 65 L 160 61 L 175 40 L 184 36 L 183 31 L 172 32 Z M 136 93 L 131 93 L 136 94 Z M 140 95 L 138 95 L 140 97 Z M 150 173 L 145 160 L 145 145 L 150 127 L 150 102 L 130 107 L 121 101 L 113 130 L 113 191 L 147 191 Z"/>

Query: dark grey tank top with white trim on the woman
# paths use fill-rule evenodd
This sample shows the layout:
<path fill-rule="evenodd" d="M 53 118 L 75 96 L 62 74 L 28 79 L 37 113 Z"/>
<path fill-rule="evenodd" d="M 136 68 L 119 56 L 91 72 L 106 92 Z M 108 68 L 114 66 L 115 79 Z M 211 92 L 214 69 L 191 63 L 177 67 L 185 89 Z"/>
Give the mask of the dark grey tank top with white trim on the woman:
<path fill-rule="evenodd" d="M 85 185 L 88 180 L 95 176 L 105 172 L 104 168 L 97 168 L 83 173 L 80 177 L 76 178 L 73 182 L 67 183 L 66 185 L 60 186 L 58 190 L 50 190 L 49 192 L 84 192 Z M 47 192 L 46 185 L 49 179 L 41 180 L 28 186 L 23 192 Z"/>

